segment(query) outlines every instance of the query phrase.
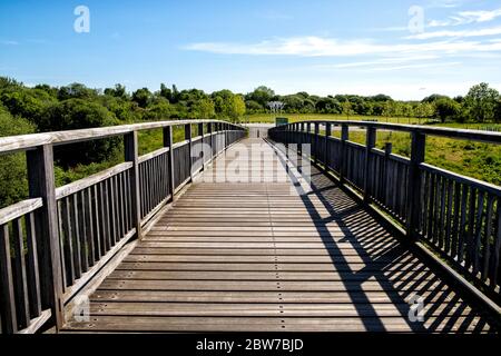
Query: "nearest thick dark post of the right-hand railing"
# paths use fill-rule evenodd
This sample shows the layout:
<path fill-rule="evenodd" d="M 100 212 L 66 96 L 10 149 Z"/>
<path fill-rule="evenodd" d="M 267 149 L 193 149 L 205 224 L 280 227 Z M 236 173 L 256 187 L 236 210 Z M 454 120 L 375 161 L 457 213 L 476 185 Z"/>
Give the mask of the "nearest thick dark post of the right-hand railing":
<path fill-rule="evenodd" d="M 413 239 L 418 230 L 421 208 L 421 175 L 420 165 L 424 161 L 426 136 L 419 131 L 411 134 L 411 161 L 409 166 L 407 185 L 407 236 Z"/>

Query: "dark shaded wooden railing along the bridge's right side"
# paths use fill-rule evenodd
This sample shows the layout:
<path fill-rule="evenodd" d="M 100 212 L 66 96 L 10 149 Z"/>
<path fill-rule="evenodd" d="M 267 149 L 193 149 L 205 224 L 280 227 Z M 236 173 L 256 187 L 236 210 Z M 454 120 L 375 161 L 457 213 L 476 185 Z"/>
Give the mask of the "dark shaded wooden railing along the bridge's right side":
<path fill-rule="evenodd" d="M 333 126 L 341 126 L 341 138 L 331 136 Z M 348 140 L 350 127 L 365 131 L 365 145 Z M 376 149 L 381 129 L 409 132 L 411 157 L 393 155 L 391 144 Z M 501 187 L 426 165 L 426 136 L 501 144 L 499 132 L 366 121 L 306 121 L 269 130 L 273 140 L 299 150 L 310 144 L 312 159 L 396 221 L 410 241 L 425 241 L 500 304 Z"/>

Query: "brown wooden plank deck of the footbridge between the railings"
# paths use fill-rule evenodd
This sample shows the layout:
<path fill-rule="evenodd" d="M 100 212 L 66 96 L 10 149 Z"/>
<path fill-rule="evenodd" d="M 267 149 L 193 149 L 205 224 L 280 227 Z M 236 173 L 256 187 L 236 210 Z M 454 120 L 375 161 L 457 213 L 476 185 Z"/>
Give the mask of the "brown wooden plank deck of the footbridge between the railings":
<path fill-rule="evenodd" d="M 242 144 L 264 142 L 246 139 Z M 200 176 L 90 297 L 90 320 L 65 332 L 484 333 L 491 326 L 357 202 L 313 170 L 291 179 L 205 182 L 252 161 L 238 146 Z M 255 169 L 255 168 L 254 168 Z M 205 177 L 205 178 L 204 178 Z M 235 177 L 233 177 L 235 178 Z M 411 322 L 411 299 L 424 320 Z"/>

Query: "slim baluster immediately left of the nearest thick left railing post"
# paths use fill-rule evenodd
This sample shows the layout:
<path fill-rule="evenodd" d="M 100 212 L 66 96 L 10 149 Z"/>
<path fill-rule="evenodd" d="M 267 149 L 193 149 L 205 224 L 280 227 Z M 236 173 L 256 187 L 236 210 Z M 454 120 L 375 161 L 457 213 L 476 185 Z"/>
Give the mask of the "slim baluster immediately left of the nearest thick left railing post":
<path fill-rule="evenodd" d="M 35 214 L 30 212 L 26 217 L 27 226 L 27 276 L 28 276 L 28 293 L 30 301 L 30 316 L 35 318 L 41 313 L 40 298 L 40 267 L 38 265 L 38 246 L 37 246 L 37 230 Z"/>

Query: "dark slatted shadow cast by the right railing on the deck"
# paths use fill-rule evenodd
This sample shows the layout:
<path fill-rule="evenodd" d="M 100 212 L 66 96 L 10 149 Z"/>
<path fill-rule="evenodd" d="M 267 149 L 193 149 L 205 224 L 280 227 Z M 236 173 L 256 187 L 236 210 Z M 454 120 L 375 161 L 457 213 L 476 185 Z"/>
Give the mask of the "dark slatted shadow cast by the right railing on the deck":
<path fill-rule="evenodd" d="M 276 147 L 274 149 L 289 178 L 296 182 L 296 177 L 289 171 L 288 160 L 278 154 Z M 301 171 L 301 158 L 295 168 Z M 364 290 L 363 284 L 369 280 L 376 281 L 381 286 L 402 317 L 402 322 L 406 323 L 412 332 L 483 330 L 488 324 L 485 317 L 478 318 L 481 314 L 471 309 L 361 204 L 351 199 L 337 184 L 315 167 L 312 167 L 311 185 L 313 189 L 311 192 L 302 191 L 298 184 L 295 186 L 366 330 L 386 330 L 384 317 L 377 314 L 373 301 Z M 330 217 L 322 217 L 314 199 L 318 199 Z M 337 225 L 344 236 L 334 237 L 330 233 L 328 224 Z M 356 251 L 362 260 L 361 269 L 352 269 L 354 264 L 348 263 L 340 248 L 338 244 L 343 243 L 350 244 Z M 423 322 L 411 322 L 409 317 L 412 305 L 410 300 L 414 295 L 423 297 Z"/>

